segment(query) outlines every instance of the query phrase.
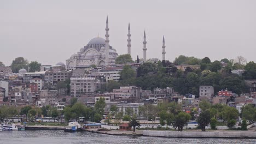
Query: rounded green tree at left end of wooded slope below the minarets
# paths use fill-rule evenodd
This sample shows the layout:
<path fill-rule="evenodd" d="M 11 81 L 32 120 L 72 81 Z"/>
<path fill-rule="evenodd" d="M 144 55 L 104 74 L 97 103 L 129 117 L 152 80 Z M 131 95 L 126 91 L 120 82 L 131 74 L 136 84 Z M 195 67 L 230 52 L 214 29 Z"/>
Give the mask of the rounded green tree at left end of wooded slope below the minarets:
<path fill-rule="evenodd" d="M 135 85 L 136 73 L 130 65 L 125 65 L 120 73 L 120 83 L 123 86 Z"/>

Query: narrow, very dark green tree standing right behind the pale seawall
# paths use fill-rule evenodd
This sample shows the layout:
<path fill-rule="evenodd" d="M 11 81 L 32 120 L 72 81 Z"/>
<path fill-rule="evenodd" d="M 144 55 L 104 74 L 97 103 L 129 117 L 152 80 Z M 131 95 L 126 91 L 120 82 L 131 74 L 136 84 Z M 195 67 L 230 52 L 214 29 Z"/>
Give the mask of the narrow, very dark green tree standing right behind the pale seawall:
<path fill-rule="evenodd" d="M 197 122 L 201 130 L 205 131 L 205 127 L 211 122 L 210 110 L 202 111 L 197 117 Z"/>

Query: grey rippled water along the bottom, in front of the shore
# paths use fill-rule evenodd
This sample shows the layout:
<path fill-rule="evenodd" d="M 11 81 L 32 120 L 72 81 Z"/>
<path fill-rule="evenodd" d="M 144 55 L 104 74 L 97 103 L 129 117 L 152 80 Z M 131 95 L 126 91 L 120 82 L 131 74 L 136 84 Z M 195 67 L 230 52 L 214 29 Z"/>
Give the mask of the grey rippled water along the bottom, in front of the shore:
<path fill-rule="evenodd" d="M 63 130 L 0 131 L 0 143 L 256 143 L 256 139 L 184 139 L 148 136 L 113 136 L 90 132 L 64 133 Z"/>

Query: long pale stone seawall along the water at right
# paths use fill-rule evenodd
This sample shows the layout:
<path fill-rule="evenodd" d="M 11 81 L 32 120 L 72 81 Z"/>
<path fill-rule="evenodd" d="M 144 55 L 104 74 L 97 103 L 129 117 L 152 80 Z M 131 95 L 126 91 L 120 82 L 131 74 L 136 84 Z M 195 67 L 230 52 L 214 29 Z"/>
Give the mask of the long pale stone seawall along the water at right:
<path fill-rule="evenodd" d="M 212 138 L 252 138 L 256 139 L 256 132 L 246 131 L 155 131 L 143 130 L 143 136 L 159 137 L 212 137 Z"/>

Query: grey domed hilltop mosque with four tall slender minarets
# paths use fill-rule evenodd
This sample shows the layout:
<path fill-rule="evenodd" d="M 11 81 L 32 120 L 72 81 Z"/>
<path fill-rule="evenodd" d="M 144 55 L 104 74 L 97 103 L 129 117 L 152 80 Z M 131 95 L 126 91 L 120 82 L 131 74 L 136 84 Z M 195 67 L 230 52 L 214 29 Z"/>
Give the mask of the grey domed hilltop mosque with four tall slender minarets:
<path fill-rule="evenodd" d="M 108 16 L 105 30 L 105 39 L 100 37 L 91 39 L 86 46 L 80 49 L 79 52 L 73 54 L 69 59 L 66 60 L 66 68 L 71 70 L 77 68 L 88 68 L 91 67 L 91 65 L 96 65 L 97 67 L 104 67 L 115 64 L 115 59 L 118 57 L 118 53 L 117 50 L 113 49 L 113 47 L 109 45 Z M 127 53 L 131 55 L 130 23 L 128 26 L 127 37 Z M 147 61 L 146 44 L 146 32 L 144 31 L 143 62 Z M 164 38 L 162 44 L 162 59 L 165 60 Z"/>

